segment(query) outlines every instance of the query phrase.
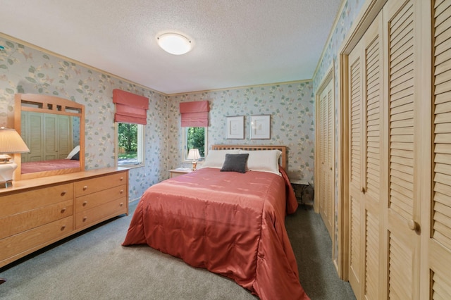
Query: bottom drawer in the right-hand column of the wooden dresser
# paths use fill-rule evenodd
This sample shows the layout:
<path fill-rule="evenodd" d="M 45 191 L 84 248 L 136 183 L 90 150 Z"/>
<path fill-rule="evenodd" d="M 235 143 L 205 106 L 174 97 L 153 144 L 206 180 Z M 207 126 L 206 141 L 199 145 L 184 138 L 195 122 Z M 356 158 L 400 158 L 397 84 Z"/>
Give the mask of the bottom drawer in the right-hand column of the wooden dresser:
<path fill-rule="evenodd" d="M 75 229 L 94 225 L 103 220 L 113 218 L 116 215 L 128 213 L 127 197 L 109 201 L 100 204 L 92 209 L 76 213 L 75 215 Z"/>

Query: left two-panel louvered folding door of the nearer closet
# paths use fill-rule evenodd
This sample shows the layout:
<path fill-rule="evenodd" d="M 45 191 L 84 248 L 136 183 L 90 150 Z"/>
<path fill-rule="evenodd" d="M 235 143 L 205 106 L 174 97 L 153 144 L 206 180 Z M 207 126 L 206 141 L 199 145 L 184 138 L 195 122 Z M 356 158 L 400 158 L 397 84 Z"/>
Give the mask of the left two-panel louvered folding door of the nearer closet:
<path fill-rule="evenodd" d="M 380 299 L 382 13 L 350 54 L 350 280 L 358 299 Z"/>

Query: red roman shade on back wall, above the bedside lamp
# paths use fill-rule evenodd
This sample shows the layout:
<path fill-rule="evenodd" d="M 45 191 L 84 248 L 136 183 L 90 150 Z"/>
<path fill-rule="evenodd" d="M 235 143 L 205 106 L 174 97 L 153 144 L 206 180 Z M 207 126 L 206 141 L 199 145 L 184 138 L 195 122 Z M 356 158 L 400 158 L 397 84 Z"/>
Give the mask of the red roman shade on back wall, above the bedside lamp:
<path fill-rule="evenodd" d="M 180 103 L 182 127 L 208 127 L 209 101 L 191 101 Z"/>

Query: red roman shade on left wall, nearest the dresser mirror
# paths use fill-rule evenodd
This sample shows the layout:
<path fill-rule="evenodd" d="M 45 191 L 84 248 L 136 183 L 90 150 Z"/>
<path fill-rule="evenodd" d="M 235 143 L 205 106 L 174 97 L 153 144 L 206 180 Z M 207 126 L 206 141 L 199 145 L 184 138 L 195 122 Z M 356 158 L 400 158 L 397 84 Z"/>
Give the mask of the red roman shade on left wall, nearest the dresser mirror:
<path fill-rule="evenodd" d="M 116 104 L 115 122 L 147 124 L 148 98 L 122 89 L 113 89 L 113 103 Z"/>

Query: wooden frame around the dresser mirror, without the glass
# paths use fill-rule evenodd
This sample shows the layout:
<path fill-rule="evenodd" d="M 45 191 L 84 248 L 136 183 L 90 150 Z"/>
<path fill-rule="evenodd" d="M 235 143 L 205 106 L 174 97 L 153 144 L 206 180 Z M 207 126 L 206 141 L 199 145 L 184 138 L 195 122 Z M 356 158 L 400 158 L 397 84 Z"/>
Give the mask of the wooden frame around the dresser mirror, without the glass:
<path fill-rule="evenodd" d="M 24 106 L 23 104 L 32 104 Z M 47 170 L 43 172 L 22 174 L 20 154 L 14 154 L 14 161 L 18 167 L 14 180 L 25 180 L 51 175 L 75 173 L 85 170 L 85 106 L 75 101 L 63 99 L 57 96 L 44 94 L 16 94 L 14 99 L 14 128 L 21 132 L 22 111 L 33 111 L 37 113 L 52 113 L 56 115 L 70 115 L 80 118 L 80 167 L 64 168 L 58 170 Z"/>

